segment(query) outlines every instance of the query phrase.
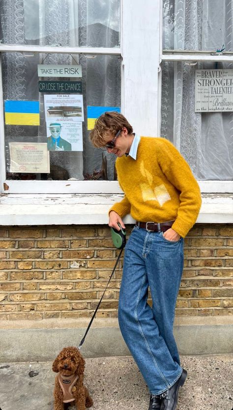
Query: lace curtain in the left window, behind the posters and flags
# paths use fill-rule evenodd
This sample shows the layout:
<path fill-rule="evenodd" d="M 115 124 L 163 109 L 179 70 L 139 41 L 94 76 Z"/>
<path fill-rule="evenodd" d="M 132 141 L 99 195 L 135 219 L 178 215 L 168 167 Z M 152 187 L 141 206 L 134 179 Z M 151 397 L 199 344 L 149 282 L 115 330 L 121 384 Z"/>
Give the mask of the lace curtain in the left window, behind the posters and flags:
<path fill-rule="evenodd" d="M 63 47 L 118 47 L 119 0 L 0 0 L 2 42 Z M 40 126 L 5 126 L 8 143 L 46 142 L 43 94 L 38 92 L 37 64 L 81 64 L 85 122 L 83 152 L 50 151 L 50 163 L 66 177 L 84 179 L 100 170 L 105 158 L 107 178 L 114 178 L 114 156 L 93 148 L 88 140 L 87 105 L 120 106 L 120 59 L 115 56 L 69 54 L 3 54 L 4 99 L 38 100 Z M 46 80 L 56 80 L 46 78 Z M 106 172 L 106 169 L 105 169 Z M 64 175 L 64 174 L 63 174 Z M 12 176 L 11 176 L 12 177 Z M 44 178 L 37 175 L 37 178 Z M 53 177 L 53 179 L 57 179 Z"/>

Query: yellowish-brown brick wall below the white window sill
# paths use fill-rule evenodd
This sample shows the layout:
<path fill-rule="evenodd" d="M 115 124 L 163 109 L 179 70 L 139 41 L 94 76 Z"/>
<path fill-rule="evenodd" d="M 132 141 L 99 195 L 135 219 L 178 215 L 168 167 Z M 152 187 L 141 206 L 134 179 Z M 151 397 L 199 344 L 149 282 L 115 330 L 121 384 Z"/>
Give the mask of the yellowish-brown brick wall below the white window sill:
<path fill-rule="evenodd" d="M 90 317 L 117 253 L 106 226 L 0 229 L 0 320 Z M 232 265 L 233 226 L 195 225 L 176 315 L 232 315 Z M 117 317 L 121 270 L 122 261 L 97 317 Z"/>

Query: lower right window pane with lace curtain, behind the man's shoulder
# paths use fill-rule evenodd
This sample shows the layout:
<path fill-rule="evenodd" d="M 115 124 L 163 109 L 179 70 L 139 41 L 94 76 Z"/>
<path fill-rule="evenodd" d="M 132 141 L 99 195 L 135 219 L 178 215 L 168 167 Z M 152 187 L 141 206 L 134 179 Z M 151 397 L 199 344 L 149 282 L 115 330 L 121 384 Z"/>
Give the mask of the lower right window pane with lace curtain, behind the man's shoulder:
<path fill-rule="evenodd" d="M 216 67 L 163 62 L 161 136 L 179 149 L 198 179 L 231 180 L 233 112 L 195 112 L 195 70 L 203 68 Z M 218 68 L 233 64 L 218 63 Z"/>

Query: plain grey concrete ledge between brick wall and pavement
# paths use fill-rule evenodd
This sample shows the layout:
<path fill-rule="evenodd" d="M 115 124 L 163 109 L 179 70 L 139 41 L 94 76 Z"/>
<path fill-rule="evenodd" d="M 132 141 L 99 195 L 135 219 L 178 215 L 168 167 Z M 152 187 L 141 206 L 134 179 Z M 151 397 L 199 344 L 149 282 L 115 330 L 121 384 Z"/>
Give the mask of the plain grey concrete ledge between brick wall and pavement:
<path fill-rule="evenodd" d="M 78 346 L 88 320 L 0 322 L 0 362 L 47 361 L 64 346 Z M 174 327 L 180 354 L 233 353 L 233 317 L 177 318 Z M 130 354 L 117 319 L 94 320 L 83 345 L 85 357 Z"/>

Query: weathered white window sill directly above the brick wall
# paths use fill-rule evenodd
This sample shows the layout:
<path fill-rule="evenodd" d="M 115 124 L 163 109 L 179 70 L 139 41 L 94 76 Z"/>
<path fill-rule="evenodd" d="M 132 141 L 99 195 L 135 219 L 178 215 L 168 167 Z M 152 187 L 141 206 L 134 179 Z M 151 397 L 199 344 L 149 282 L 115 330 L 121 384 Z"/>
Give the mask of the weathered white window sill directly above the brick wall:
<path fill-rule="evenodd" d="M 107 224 L 109 208 L 120 194 L 3 194 L 0 225 L 91 225 Z M 233 223 L 231 194 L 203 194 L 198 223 Z M 134 223 L 130 215 L 126 224 Z"/>

